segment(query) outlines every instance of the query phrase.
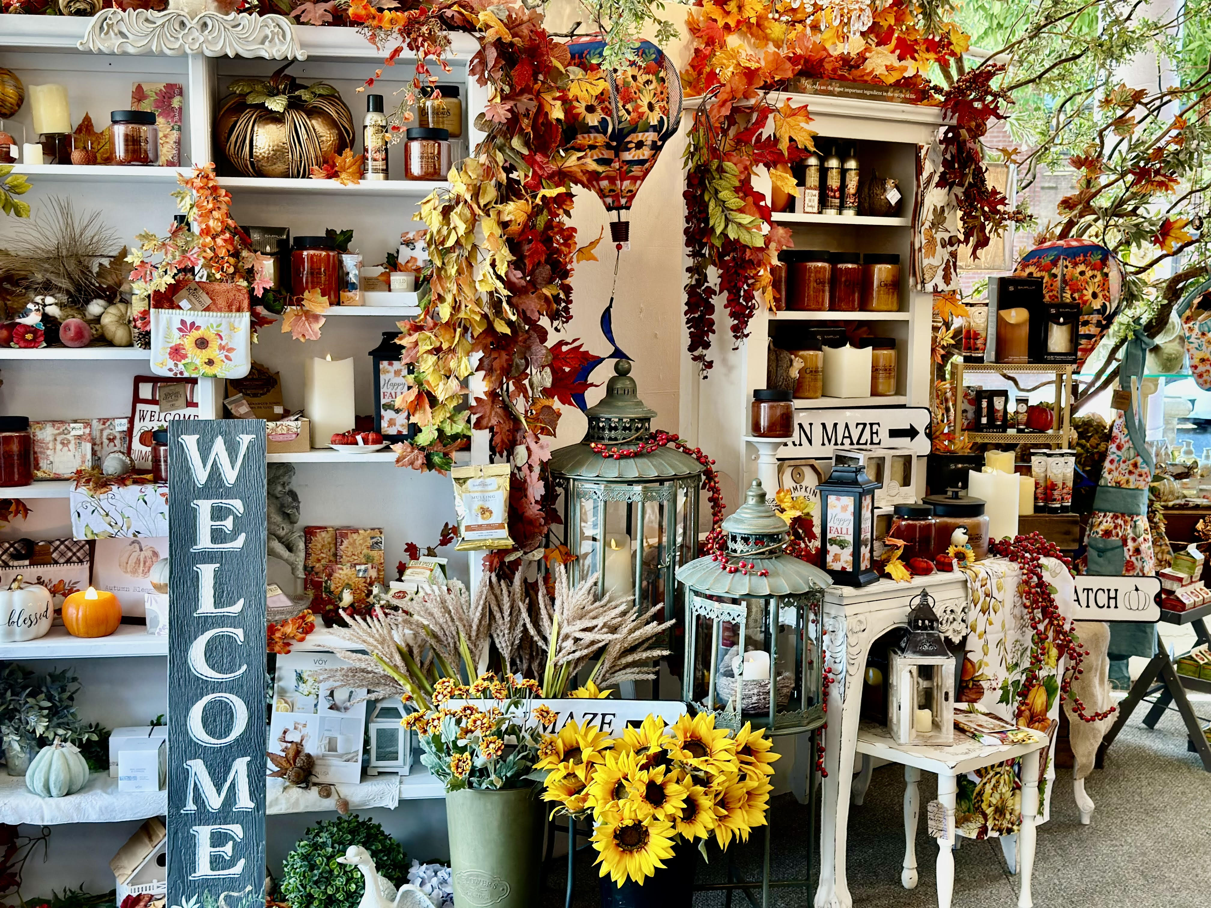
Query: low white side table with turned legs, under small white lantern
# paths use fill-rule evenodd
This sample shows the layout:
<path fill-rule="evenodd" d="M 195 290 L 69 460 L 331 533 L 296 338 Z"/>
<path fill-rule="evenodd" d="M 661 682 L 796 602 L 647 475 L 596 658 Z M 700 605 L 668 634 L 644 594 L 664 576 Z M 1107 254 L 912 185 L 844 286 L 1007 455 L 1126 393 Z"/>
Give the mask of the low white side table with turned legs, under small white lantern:
<path fill-rule="evenodd" d="M 863 722 L 857 732 L 857 752 L 878 757 L 905 768 L 905 861 L 900 881 L 905 889 L 917 885 L 917 820 L 920 814 L 920 797 L 917 783 L 920 772 L 937 776 L 937 799 L 951 815 L 947 834 L 937 840 L 937 904 L 951 908 L 954 893 L 954 801 L 958 777 L 1004 760 L 1022 758 L 1022 827 L 1017 834 L 1018 908 L 1031 908 L 1031 873 L 1034 868 L 1035 818 L 1039 811 L 1039 754 L 1049 746 L 1046 737 L 1026 745 L 982 745 L 955 730 L 951 747 L 909 747 L 891 740 L 883 725 Z"/>

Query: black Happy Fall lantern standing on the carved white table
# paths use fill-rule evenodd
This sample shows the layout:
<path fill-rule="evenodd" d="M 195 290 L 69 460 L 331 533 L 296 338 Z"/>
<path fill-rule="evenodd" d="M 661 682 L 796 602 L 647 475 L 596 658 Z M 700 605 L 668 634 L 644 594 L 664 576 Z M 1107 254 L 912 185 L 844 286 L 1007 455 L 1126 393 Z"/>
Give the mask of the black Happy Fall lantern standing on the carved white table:
<path fill-rule="evenodd" d="M 861 464 L 836 464 L 816 485 L 821 506 L 820 567 L 840 586 L 867 586 L 874 573 L 874 490 Z"/>

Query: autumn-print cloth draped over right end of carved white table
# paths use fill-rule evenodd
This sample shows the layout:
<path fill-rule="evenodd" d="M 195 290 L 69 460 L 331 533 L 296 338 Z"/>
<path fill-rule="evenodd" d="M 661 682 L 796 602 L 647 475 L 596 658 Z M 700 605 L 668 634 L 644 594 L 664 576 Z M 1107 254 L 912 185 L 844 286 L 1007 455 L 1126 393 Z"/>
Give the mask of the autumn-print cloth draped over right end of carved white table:
<path fill-rule="evenodd" d="M 1072 575 L 1054 558 L 1041 559 L 1060 613 L 1075 614 Z M 971 600 L 955 711 L 972 705 L 983 712 L 1015 719 L 1046 734 L 1050 746 L 1040 763 L 1039 822 L 1045 822 L 1055 778 L 1055 737 L 1060 723 L 1060 677 L 1063 662 L 1054 648 L 1043 655 L 1043 671 L 1025 699 L 1022 685 L 1031 663 L 1031 623 L 1017 592 L 1021 573 L 1005 558 L 966 568 Z M 959 732 L 957 732 L 959 734 Z M 955 828 L 962 835 L 985 839 L 1017 832 L 1021 822 L 1021 760 L 970 772 L 959 778 Z"/>

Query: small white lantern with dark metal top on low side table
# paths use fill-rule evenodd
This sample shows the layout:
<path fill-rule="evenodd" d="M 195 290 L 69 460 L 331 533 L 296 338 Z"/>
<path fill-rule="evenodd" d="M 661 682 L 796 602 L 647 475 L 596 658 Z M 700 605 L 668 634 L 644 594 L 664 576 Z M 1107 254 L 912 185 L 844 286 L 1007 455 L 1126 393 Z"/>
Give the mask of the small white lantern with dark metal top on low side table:
<path fill-rule="evenodd" d="M 954 656 L 928 591 L 909 600 L 908 638 L 891 650 L 888 730 L 899 745 L 954 743 Z"/>

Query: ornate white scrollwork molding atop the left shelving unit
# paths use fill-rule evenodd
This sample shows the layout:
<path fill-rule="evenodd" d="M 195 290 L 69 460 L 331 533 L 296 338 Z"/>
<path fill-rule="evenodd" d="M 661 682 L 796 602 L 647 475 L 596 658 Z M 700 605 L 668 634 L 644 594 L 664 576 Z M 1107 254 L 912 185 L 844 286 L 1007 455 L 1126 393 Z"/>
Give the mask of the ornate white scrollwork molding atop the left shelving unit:
<path fill-rule="evenodd" d="M 263 57 L 306 59 L 285 16 L 203 12 L 191 18 L 166 10 L 102 10 L 88 23 L 78 47 L 93 53 L 151 53 L 179 57 Z"/>

